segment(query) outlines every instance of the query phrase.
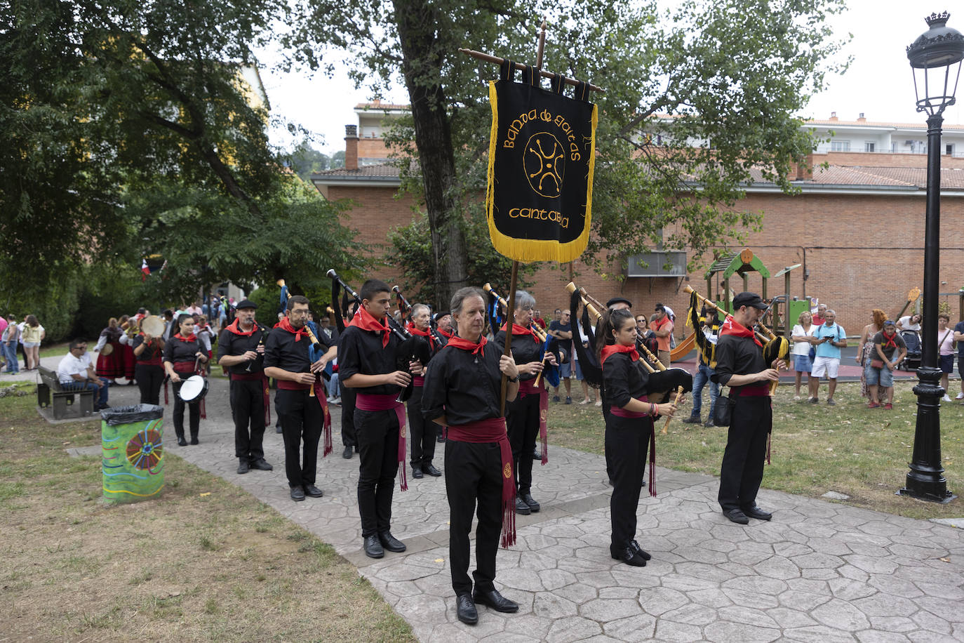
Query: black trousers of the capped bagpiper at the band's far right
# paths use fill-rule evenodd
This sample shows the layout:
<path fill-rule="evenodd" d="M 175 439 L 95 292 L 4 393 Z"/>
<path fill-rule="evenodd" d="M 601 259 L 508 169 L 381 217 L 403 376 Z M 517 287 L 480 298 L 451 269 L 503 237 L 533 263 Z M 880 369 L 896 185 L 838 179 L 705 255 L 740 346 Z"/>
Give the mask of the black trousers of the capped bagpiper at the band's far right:
<path fill-rule="evenodd" d="M 727 435 L 720 493 L 723 511 L 749 508 L 757 503 L 763 482 L 766 437 L 773 426 L 769 397 L 737 397 Z"/>

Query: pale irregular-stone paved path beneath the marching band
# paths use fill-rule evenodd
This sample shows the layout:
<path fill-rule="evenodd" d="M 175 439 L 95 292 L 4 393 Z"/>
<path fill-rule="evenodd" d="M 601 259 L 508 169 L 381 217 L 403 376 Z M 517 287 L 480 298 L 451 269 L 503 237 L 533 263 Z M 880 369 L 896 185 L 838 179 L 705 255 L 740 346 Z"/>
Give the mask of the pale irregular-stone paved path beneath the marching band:
<path fill-rule="evenodd" d="M 520 612 L 480 606 L 470 628 L 455 617 L 442 478 L 410 477 L 409 491 L 395 492 L 392 531 L 408 551 L 366 558 L 359 462 L 341 458 L 338 410 L 335 453 L 319 463 L 325 496 L 296 503 L 273 429 L 265 451 L 275 470 L 235 473 L 228 383 L 211 385 L 201 445 L 176 446 L 169 421 L 170 452 L 331 543 L 420 640 L 964 640 L 964 530 L 765 490 L 760 504 L 773 521 L 739 526 L 719 513 L 715 478 L 657 468 L 659 495 L 639 503 L 638 540 L 653 560 L 630 568 L 609 557 L 603 458 L 551 444 L 549 465 L 534 471 L 532 494 L 543 510 L 520 517 L 519 543 L 498 552 L 496 586 Z M 111 389 L 113 406 L 137 398 L 136 388 Z"/>

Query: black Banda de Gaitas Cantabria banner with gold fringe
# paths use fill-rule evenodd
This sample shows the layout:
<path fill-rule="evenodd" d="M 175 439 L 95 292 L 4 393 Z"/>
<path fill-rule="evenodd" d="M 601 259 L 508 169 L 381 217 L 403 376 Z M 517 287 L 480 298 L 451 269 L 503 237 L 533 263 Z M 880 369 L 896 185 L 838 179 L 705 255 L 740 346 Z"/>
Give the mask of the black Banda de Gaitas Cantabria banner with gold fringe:
<path fill-rule="evenodd" d="M 572 261 L 589 240 L 597 107 L 585 83 L 571 98 L 559 74 L 549 91 L 539 87 L 538 69 L 525 67 L 522 83 L 512 69 L 504 61 L 489 84 L 489 234 L 495 250 L 516 261 Z"/>

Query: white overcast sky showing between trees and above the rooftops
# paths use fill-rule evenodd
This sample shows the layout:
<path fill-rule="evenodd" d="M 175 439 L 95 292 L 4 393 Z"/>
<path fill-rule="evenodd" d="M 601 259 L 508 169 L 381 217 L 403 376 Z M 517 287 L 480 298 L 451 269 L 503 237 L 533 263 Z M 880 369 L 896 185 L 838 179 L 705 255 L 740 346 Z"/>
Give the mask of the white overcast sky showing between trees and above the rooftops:
<path fill-rule="evenodd" d="M 853 62 L 843 76 L 829 78 L 828 89 L 814 96 L 801 116 L 827 119 L 831 112 L 837 112 L 842 121 L 852 121 L 864 112 L 869 121 L 923 124 L 923 115 L 915 111 L 914 85 L 905 48 L 927 29 L 924 16 L 954 9 L 948 4 L 849 0 L 849 9 L 832 20 L 839 37 L 853 35 L 844 50 Z M 949 26 L 964 31 L 964 11 L 951 13 Z M 269 53 L 262 55 L 262 60 L 271 58 Z M 551 67 L 551 61 L 547 63 Z M 363 89 L 354 88 L 347 69 L 330 79 L 320 74 L 310 78 L 307 73 L 281 74 L 265 68 L 261 77 L 272 113 L 311 130 L 316 137 L 315 147 L 327 153 L 344 148 L 344 126 L 357 122 L 353 108 L 371 97 Z M 961 92 L 964 88 L 958 95 Z M 387 99 L 408 103 L 403 88 L 396 89 Z M 962 123 L 961 116 L 958 104 L 948 109 L 945 119 L 948 123 Z M 272 141 L 289 147 L 291 137 L 279 130 L 273 133 Z"/>

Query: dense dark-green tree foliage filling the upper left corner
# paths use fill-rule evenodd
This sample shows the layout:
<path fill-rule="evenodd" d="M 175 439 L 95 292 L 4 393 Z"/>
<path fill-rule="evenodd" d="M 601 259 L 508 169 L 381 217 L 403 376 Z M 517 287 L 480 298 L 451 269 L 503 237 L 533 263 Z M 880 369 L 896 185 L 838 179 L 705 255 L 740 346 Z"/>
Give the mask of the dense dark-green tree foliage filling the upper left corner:
<path fill-rule="evenodd" d="M 0 3 L 15 37 L 0 45 L 13 64 L 0 127 L 24 130 L 0 152 L 14 205 L 0 216 L 20 265 L 0 263 L 45 282 L 51 255 L 136 272 L 161 254 L 166 279 L 147 287 L 162 301 L 228 280 L 312 287 L 332 263 L 360 267 L 353 233 L 283 168 L 260 88 L 241 80 L 286 11 L 284 0 Z"/>

